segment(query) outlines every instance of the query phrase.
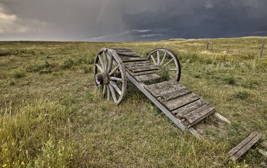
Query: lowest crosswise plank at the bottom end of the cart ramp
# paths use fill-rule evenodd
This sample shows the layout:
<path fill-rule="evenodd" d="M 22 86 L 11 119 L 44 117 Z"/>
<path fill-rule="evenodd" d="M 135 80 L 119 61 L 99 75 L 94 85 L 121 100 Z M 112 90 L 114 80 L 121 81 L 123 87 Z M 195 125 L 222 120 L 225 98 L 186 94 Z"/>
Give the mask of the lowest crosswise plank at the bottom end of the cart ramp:
<path fill-rule="evenodd" d="M 215 107 L 211 106 L 210 108 L 207 108 L 206 110 L 203 110 L 193 116 L 191 116 L 190 118 L 188 118 L 186 120 L 186 122 L 184 122 L 188 127 L 191 127 L 193 125 L 195 125 L 196 123 L 200 122 L 202 119 L 206 118 L 207 116 L 209 116 L 211 113 L 213 113 L 216 110 Z"/>

